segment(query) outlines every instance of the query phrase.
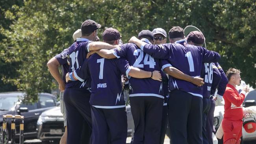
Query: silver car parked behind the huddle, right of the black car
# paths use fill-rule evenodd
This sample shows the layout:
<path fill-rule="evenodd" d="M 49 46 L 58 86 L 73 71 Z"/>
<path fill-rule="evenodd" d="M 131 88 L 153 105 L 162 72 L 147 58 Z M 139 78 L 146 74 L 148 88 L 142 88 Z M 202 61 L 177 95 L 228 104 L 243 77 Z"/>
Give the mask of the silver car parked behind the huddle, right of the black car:
<path fill-rule="evenodd" d="M 130 105 L 126 105 L 126 112 L 128 123 L 127 136 L 132 137 L 134 132 L 134 121 Z M 37 121 L 37 138 L 43 143 L 49 141 L 54 143 L 59 142 L 61 136 L 65 132 L 63 122 L 63 115 L 61 114 L 59 106 L 43 112 Z"/>

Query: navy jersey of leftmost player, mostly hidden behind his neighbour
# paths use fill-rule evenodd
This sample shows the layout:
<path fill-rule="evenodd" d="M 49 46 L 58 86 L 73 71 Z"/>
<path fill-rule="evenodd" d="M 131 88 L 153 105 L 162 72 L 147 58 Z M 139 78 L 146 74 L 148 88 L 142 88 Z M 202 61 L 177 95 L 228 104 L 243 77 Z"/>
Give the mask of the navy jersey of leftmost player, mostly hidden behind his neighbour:
<path fill-rule="evenodd" d="M 62 66 L 62 79 L 64 83 L 66 83 L 66 74 L 69 72 L 69 64 L 67 61 L 68 55 L 69 55 L 69 48 L 66 48 L 60 54 L 54 56 L 59 62 L 59 65 Z"/>

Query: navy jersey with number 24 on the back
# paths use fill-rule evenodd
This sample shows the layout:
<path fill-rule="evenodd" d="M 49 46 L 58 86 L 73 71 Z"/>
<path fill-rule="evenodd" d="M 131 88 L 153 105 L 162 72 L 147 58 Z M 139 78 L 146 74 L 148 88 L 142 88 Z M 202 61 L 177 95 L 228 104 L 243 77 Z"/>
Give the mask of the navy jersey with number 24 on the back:
<path fill-rule="evenodd" d="M 130 66 L 140 68 L 145 71 L 152 72 L 154 70 L 161 71 L 159 59 L 154 59 L 150 55 L 143 53 L 133 43 L 123 44 L 114 48 L 111 52 L 117 57 L 124 57 Z M 156 96 L 163 97 L 163 85 L 161 81 L 152 78 L 130 78 L 130 97 L 132 96 Z"/>

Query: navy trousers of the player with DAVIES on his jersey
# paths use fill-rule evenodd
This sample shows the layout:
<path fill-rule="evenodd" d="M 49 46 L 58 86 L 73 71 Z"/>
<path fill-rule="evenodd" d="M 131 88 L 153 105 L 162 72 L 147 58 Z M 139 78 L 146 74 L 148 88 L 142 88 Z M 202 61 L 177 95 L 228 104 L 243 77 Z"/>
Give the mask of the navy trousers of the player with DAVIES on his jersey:
<path fill-rule="evenodd" d="M 126 144 L 126 108 L 101 109 L 91 106 L 93 144 Z M 110 142 L 108 142 L 110 140 Z"/>

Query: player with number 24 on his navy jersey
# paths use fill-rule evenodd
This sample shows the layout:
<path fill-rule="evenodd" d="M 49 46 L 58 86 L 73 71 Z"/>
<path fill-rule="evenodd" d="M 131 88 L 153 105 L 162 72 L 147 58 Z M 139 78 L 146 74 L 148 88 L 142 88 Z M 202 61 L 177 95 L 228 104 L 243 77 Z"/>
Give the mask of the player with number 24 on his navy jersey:
<path fill-rule="evenodd" d="M 143 30 L 139 39 L 151 43 L 154 36 L 151 31 Z M 162 66 L 170 66 L 168 62 L 154 59 L 143 53 L 135 44 L 123 44 L 113 50 L 100 50 L 97 54 L 104 58 L 125 57 L 129 64 L 146 71 L 161 70 Z M 173 73 L 183 79 L 193 79 L 177 69 Z M 174 72 L 175 71 L 175 72 Z M 161 115 L 163 107 L 162 83 L 151 79 L 130 78 L 130 103 L 134 118 L 135 131 L 132 144 L 159 144 Z"/>

